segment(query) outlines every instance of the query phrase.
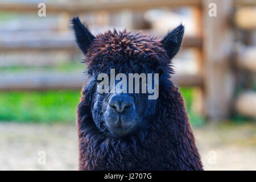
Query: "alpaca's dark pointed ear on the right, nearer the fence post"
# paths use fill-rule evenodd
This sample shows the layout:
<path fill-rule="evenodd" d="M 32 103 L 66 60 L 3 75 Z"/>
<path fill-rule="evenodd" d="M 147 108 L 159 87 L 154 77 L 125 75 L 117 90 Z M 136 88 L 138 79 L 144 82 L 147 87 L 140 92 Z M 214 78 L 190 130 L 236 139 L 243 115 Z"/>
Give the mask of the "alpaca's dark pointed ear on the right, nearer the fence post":
<path fill-rule="evenodd" d="M 180 24 L 174 30 L 168 32 L 160 42 L 163 44 L 164 49 L 167 51 L 167 55 L 172 59 L 179 51 L 182 38 L 184 34 L 184 26 Z"/>

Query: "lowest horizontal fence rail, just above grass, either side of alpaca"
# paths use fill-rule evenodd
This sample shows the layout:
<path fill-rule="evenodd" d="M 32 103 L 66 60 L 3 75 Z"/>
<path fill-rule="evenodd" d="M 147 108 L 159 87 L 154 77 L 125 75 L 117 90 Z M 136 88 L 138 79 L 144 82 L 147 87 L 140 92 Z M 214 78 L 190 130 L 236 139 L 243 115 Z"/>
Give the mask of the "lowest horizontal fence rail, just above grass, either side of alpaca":
<path fill-rule="evenodd" d="M 198 75 L 182 74 L 172 78 L 179 86 L 201 86 Z M 81 89 L 88 79 L 82 73 L 56 71 L 1 72 L 0 90 Z"/>

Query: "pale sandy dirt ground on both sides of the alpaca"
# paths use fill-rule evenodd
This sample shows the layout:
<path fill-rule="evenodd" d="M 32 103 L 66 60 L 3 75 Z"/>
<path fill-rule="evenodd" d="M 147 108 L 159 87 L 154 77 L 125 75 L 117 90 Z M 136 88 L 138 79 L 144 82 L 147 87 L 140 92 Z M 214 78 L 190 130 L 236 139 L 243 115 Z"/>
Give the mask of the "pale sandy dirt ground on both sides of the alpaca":
<path fill-rule="evenodd" d="M 193 131 L 205 170 L 256 170 L 255 122 Z M 1 170 L 77 170 L 77 158 L 75 125 L 0 122 Z"/>

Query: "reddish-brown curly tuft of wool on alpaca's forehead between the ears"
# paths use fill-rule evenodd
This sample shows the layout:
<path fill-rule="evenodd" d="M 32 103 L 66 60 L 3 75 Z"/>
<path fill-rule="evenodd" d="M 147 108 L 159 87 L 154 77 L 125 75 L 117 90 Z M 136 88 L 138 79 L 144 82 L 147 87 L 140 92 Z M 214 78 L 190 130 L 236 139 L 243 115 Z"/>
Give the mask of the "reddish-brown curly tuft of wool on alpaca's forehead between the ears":
<path fill-rule="evenodd" d="M 106 72 L 118 65 L 138 68 L 138 71 L 143 67 L 142 64 L 148 64 L 147 69 L 159 68 L 159 65 L 170 64 L 170 59 L 162 43 L 156 38 L 141 32 L 131 33 L 126 30 L 118 32 L 114 29 L 113 32 L 107 31 L 96 36 L 88 48 L 85 62 L 88 73 L 92 73 L 92 70 Z"/>

